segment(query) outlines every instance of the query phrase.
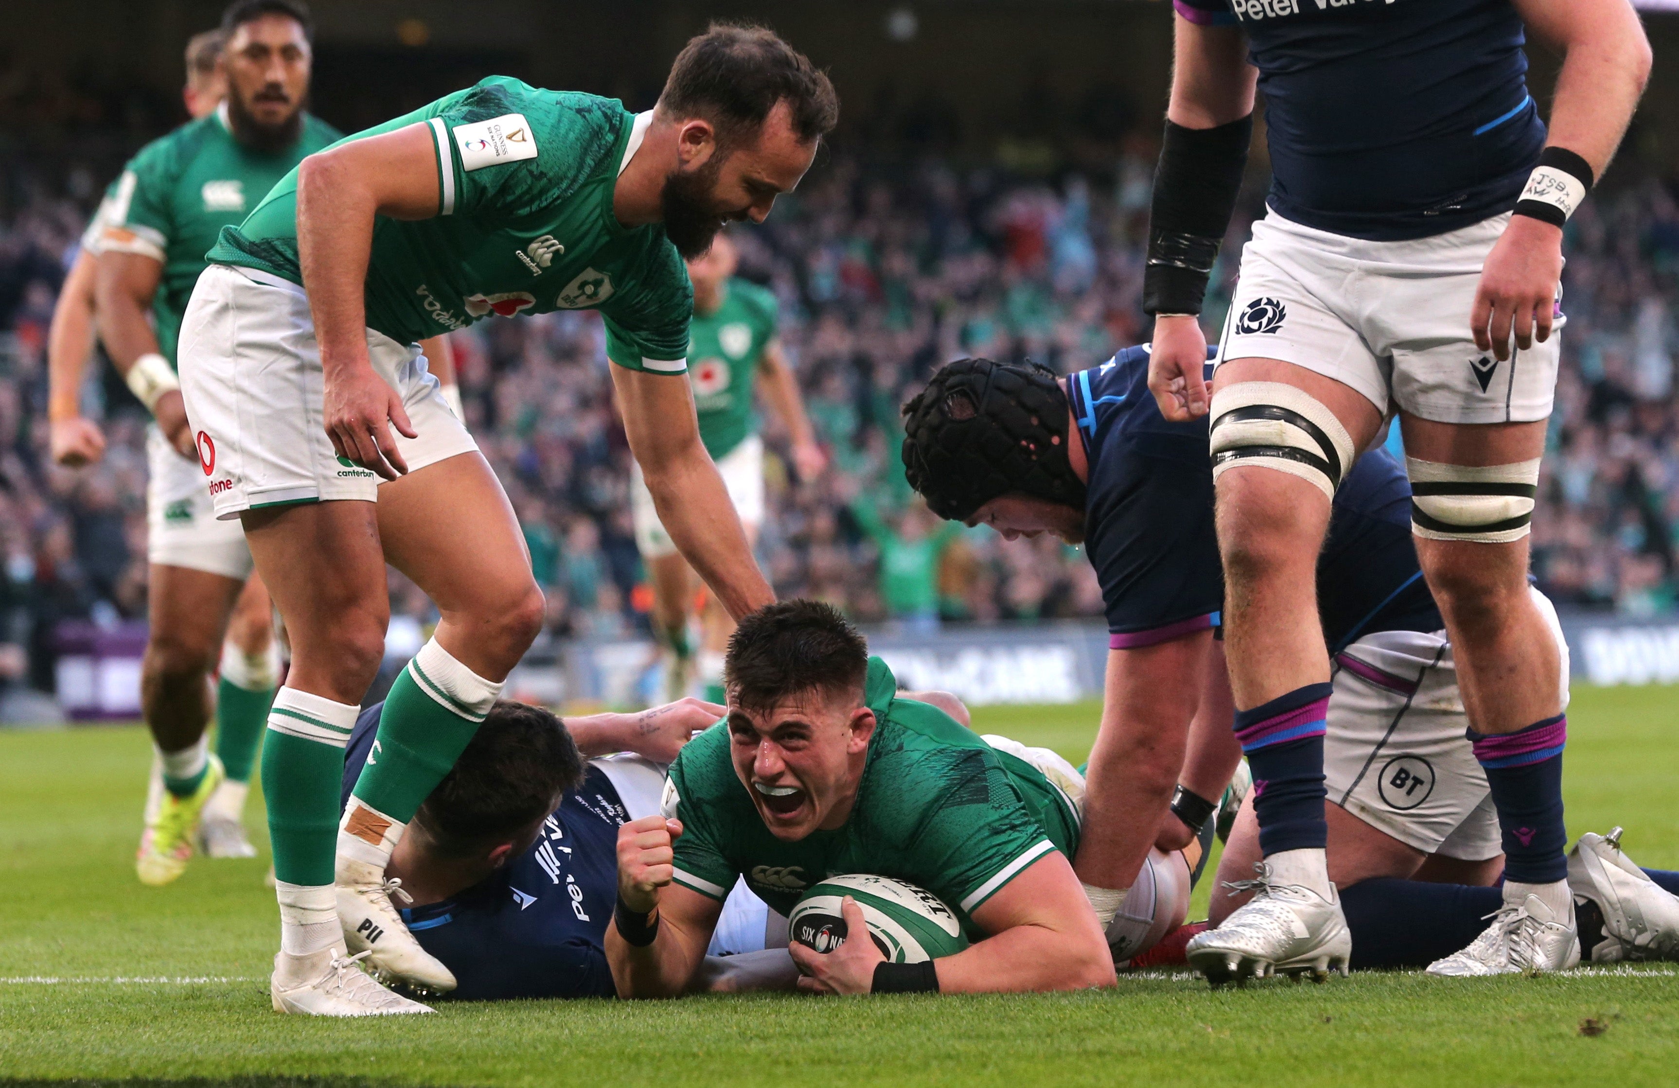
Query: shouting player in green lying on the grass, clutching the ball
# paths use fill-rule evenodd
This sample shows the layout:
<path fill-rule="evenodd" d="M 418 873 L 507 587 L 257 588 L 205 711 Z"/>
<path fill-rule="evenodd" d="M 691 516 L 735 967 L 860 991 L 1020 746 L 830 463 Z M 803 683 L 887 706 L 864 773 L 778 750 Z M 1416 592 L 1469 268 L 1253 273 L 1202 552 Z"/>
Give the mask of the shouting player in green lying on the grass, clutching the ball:
<path fill-rule="evenodd" d="M 932 892 L 975 944 L 923 964 L 888 964 L 871 940 L 828 954 L 799 945 L 791 952 L 801 989 L 1113 982 L 1101 927 L 1068 861 L 1083 779 L 1066 761 L 1011 742 L 992 747 L 944 710 L 900 698 L 863 636 L 816 601 L 745 616 L 724 677 L 729 719 L 677 757 L 663 816 L 618 831 L 606 955 L 621 996 L 670 997 L 692 986 L 737 878 L 791 913 L 804 888 L 848 873 Z M 855 903 L 845 918 L 863 932 Z"/>

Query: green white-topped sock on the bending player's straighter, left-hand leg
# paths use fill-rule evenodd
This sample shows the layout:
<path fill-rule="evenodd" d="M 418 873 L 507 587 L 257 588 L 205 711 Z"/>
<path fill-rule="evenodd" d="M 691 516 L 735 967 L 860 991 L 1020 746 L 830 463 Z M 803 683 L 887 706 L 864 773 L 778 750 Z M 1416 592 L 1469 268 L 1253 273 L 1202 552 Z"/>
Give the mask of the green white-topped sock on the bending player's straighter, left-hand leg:
<path fill-rule="evenodd" d="M 356 707 L 280 688 L 262 745 L 274 876 L 292 885 L 332 883 L 344 745 Z"/>

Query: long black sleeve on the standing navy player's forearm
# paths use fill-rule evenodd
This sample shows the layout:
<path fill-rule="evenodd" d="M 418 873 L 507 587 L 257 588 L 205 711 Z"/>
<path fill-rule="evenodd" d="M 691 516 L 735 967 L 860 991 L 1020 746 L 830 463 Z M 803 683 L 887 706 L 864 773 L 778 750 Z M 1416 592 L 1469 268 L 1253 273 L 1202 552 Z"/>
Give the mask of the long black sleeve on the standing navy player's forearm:
<path fill-rule="evenodd" d="M 1253 114 L 1211 129 L 1165 123 L 1148 213 L 1145 312 L 1200 312 L 1207 275 L 1236 210 L 1253 133 Z"/>

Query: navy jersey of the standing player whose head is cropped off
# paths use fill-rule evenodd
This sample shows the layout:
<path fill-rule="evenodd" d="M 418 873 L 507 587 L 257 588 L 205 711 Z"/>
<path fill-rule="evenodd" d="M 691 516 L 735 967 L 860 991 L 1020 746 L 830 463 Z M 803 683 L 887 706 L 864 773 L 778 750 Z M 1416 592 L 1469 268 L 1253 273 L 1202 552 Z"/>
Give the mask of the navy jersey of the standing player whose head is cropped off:
<path fill-rule="evenodd" d="M 1174 5 L 1190 22 L 1247 34 L 1278 215 L 1387 242 L 1516 207 L 1545 123 L 1509 0 Z"/>

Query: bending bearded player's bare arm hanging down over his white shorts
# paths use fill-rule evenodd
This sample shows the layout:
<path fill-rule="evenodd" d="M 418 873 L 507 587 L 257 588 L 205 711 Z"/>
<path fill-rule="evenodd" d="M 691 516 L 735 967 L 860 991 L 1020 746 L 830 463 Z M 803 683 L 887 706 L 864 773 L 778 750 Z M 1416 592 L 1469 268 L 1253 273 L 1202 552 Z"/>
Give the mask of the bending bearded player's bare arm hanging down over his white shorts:
<path fill-rule="evenodd" d="M 416 433 L 401 396 L 368 361 L 373 217 L 432 218 L 438 193 L 437 144 L 421 123 L 311 154 L 297 168 L 297 255 L 321 344 L 322 421 L 339 457 L 386 480 L 408 472 L 390 426 Z"/>

